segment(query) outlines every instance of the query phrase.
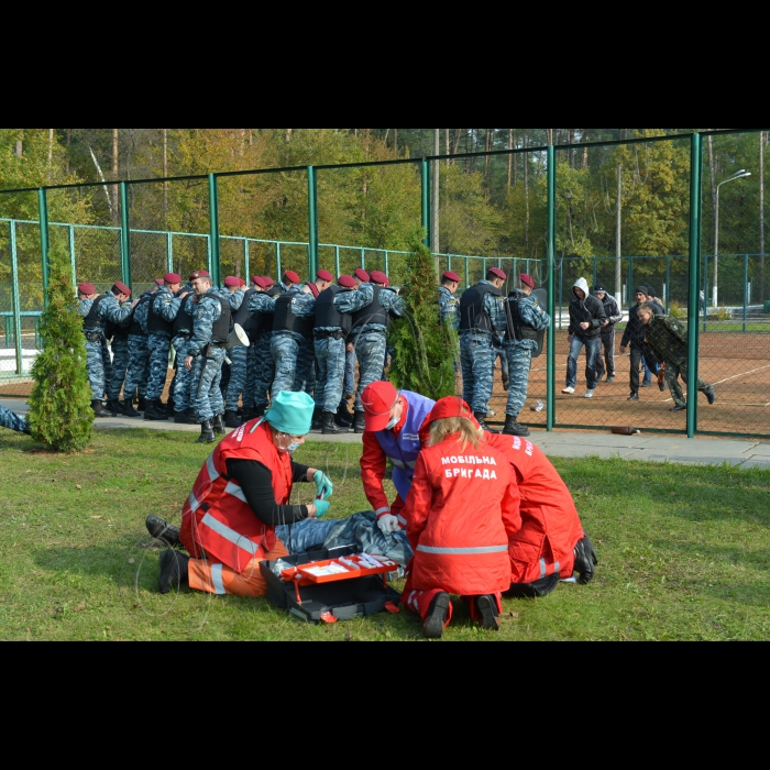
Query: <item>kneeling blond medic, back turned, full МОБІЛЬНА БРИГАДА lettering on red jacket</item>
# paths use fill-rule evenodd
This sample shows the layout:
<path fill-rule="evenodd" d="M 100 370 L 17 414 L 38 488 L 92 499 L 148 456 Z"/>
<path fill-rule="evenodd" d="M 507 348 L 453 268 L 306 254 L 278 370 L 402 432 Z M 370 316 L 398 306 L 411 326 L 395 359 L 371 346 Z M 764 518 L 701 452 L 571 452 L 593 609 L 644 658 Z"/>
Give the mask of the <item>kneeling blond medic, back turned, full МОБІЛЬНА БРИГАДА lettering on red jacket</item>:
<path fill-rule="evenodd" d="M 508 543 L 521 527 L 519 492 L 505 454 L 486 443 L 461 398 L 441 399 L 417 459 L 403 517 L 415 558 L 402 603 L 438 639 L 452 618 L 449 594 L 471 603 L 474 619 L 499 629 L 510 586 Z"/>

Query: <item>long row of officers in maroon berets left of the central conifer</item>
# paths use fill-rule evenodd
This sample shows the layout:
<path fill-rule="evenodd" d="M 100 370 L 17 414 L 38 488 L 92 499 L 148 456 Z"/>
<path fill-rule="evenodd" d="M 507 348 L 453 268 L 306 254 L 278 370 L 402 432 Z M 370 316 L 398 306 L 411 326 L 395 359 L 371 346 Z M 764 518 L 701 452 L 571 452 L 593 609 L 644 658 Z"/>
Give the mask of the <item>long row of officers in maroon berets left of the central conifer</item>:
<path fill-rule="evenodd" d="M 314 396 L 314 429 L 363 433 L 361 395 L 385 378 L 387 328 L 406 310 L 387 275 L 363 270 L 337 283 L 327 271 L 305 283 L 292 271 L 277 284 L 254 276 L 249 287 L 231 276 L 223 288 L 206 271 L 186 285 L 168 273 L 133 301 L 120 282 L 105 295 L 80 284 L 78 300 L 96 417 L 144 413 L 145 420 L 197 424 L 200 443 L 263 416 L 270 394 L 285 391 Z M 248 348 L 231 346 L 235 324 Z M 176 371 L 164 404 L 172 348 Z M 354 393 L 351 415 L 345 395 Z"/>

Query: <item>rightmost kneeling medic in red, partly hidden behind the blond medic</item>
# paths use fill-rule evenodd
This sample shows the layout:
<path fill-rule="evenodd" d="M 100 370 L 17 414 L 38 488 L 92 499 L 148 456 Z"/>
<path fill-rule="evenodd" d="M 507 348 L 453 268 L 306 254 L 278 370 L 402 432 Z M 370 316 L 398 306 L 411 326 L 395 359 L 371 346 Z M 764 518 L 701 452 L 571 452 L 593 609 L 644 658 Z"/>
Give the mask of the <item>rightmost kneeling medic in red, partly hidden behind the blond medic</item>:
<path fill-rule="evenodd" d="M 596 554 L 556 468 L 526 439 L 490 433 L 486 440 L 508 459 L 521 494 L 522 525 L 510 538 L 512 586 L 506 595 L 546 596 L 575 571 L 580 583 L 590 583 Z"/>

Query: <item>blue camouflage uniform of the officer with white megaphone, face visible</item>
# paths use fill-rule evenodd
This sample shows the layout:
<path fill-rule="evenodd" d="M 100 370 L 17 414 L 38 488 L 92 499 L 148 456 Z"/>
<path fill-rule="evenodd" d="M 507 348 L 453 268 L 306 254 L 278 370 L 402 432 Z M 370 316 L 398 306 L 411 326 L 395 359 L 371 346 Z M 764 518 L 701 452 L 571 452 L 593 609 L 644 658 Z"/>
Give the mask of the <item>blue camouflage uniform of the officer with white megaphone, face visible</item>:
<path fill-rule="evenodd" d="M 190 400 L 199 425 L 224 414 L 219 381 L 222 377 L 222 363 L 227 351 L 222 346 L 211 344 L 213 324 L 222 316 L 222 307 L 217 297 L 221 297 L 220 293 L 209 289 L 195 305 L 193 337 L 187 350 L 187 355 L 194 359 Z M 208 355 L 204 354 L 206 352 Z M 184 362 L 179 362 L 179 365 L 184 365 Z"/>

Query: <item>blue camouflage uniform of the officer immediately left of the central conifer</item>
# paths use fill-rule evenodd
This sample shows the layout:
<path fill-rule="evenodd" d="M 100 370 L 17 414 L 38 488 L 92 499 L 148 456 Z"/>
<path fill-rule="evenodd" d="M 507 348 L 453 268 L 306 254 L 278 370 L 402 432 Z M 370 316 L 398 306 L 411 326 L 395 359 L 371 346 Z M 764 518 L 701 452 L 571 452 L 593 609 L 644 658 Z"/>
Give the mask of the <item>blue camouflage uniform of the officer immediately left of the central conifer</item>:
<path fill-rule="evenodd" d="M 375 292 L 372 284 L 362 284 L 358 292 L 337 295 L 334 305 L 340 312 L 354 315 L 374 302 Z M 383 289 L 380 304 L 392 318 L 403 318 L 406 304 L 395 292 Z M 352 339 L 355 355 L 359 359 L 359 389 L 355 394 L 355 411 L 364 411 L 361 395 L 372 383 L 383 378 L 385 356 L 387 354 L 387 327 L 382 323 L 365 323 L 353 329 Z"/>

